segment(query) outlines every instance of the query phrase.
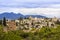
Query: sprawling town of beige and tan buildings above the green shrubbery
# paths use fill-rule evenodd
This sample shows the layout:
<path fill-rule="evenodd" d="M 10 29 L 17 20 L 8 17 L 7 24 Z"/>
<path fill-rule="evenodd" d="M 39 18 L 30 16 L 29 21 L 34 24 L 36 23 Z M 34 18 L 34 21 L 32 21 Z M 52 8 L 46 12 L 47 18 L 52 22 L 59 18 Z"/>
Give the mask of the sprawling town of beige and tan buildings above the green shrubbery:
<path fill-rule="evenodd" d="M 8 30 L 32 30 L 32 28 L 40 29 L 42 27 L 52 27 L 56 28 L 56 22 L 60 19 L 54 18 L 20 18 L 16 20 L 6 20 L 7 27 L 5 28 L 6 31 Z M 8 30 L 7 30 L 8 29 Z"/>

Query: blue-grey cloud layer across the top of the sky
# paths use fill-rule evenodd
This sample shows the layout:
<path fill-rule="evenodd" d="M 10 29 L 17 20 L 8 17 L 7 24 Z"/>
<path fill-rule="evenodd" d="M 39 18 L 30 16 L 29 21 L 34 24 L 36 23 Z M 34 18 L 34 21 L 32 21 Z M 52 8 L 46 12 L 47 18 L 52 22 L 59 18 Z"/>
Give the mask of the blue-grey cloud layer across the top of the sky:
<path fill-rule="evenodd" d="M 47 8 L 60 7 L 60 0 L 0 0 L 0 7 L 10 8 Z M 52 5 L 52 6 L 51 6 Z"/>

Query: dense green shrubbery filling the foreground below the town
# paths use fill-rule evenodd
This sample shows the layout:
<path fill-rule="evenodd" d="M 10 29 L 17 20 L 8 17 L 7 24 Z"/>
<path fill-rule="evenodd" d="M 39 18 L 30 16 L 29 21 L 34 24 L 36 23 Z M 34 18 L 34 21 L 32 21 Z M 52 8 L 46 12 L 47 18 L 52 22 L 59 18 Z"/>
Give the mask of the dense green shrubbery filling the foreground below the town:
<path fill-rule="evenodd" d="M 34 33 L 22 30 L 5 33 L 0 26 L 0 40 L 60 40 L 60 26 L 57 28 L 43 27 Z"/>

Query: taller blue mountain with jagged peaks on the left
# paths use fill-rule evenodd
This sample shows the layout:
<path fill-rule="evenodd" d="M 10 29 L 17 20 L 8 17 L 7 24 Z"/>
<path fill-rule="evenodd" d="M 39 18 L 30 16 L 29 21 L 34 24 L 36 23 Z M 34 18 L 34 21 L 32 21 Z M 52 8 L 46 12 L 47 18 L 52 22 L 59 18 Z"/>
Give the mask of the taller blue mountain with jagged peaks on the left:
<path fill-rule="evenodd" d="M 18 19 L 20 17 L 23 17 L 23 15 L 20 13 L 16 14 L 13 12 L 10 12 L 10 13 L 4 12 L 0 14 L 0 19 L 2 19 L 3 17 L 6 17 L 6 19 Z"/>

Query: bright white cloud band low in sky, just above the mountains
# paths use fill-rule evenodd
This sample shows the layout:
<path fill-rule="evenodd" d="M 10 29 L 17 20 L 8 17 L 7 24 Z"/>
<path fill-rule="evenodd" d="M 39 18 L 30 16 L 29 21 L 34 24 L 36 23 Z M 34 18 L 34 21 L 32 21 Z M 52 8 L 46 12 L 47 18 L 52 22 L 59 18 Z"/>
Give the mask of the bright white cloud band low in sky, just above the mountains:
<path fill-rule="evenodd" d="M 60 17 L 60 8 L 0 8 L 2 12 L 15 12 L 23 15 L 43 15 L 47 17 Z"/>

